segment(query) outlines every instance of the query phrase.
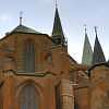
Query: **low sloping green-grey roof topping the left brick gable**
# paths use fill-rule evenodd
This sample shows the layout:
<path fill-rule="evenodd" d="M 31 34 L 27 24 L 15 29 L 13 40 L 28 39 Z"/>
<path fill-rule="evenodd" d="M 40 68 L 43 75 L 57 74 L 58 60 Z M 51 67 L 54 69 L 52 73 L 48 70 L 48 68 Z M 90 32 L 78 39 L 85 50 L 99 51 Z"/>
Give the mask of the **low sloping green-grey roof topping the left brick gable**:
<path fill-rule="evenodd" d="M 36 32 L 33 28 L 26 27 L 24 25 L 19 25 L 15 27 L 11 33 L 31 33 L 31 34 L 41 34 L 39 32 Z"/>

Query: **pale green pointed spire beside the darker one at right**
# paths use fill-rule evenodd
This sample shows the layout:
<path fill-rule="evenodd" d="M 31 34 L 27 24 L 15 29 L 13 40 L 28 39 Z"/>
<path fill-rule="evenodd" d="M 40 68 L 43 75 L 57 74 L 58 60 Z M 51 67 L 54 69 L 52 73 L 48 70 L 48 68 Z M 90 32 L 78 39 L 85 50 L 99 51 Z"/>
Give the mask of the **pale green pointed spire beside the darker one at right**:
<path fill-rule="evenodd" d="M 92 65 L 92 59 L 93 59 L 93 50 L 85 27 L 85 40 L 83 48 L 82 64 Z"/>

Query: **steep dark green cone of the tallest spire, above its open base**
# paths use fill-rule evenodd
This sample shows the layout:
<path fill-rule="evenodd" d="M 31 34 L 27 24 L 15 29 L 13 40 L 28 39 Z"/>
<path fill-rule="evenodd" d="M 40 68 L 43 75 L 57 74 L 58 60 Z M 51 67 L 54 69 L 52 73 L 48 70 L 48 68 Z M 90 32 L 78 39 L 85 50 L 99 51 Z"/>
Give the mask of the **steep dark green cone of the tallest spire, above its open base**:
<path fill-rule="evenodd" d="M 58 12 L 58 8 L 56 8 L 52 36 L 64 36 L 62 25 L 61 25 L 61 20 L 60 20 L 59 12 Z"/>

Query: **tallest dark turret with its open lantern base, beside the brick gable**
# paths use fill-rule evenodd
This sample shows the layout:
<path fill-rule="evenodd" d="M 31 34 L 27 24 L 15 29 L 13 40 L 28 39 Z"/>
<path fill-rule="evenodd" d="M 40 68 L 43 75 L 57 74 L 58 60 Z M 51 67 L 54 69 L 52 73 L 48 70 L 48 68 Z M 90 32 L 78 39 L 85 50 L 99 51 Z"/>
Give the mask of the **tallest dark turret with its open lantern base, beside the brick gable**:
<path fill-rule="evenodd" d="M 52 29 L 52 41 L 56 45 L 64 45 L 64 46 L 66 45 L 57 7 L 56 7 L 56 13 L 55 13 L 53 29 Z"/>

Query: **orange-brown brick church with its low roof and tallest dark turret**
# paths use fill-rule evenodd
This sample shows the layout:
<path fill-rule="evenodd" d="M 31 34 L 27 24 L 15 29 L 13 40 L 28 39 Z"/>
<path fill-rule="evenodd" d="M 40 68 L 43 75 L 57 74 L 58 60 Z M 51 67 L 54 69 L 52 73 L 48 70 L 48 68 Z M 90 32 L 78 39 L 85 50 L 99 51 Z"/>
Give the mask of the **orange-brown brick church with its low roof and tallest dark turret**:
<path fill-rule="evenodd" d="M 20 24 L 0 40 L 0 109 L 109 109 L 108 62 L 88 53 L 69 55 L 57 8 L 51 36 Z"/>

